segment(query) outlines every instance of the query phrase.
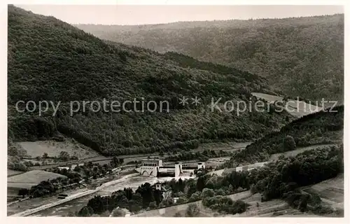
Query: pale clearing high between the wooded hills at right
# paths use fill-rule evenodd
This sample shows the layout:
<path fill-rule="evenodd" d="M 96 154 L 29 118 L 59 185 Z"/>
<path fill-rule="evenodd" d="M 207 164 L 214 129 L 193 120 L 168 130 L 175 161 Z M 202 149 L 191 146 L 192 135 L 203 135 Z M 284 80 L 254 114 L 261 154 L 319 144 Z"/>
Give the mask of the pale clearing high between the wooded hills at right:
<path fill-rule="evenodd" d="M 271 95 L 271 94 L 265 94 L 260 92 L 252 92 L 253 96 L 257 97 L 258 99 L 265 99 L 269 103 L 273 103 L 276 101 L 282 101 L 283 97 Z M 321 106 L 321 103 L 319 104 Z M 315 113 L 321 109 L 321 107 L 315 106 L 312 104 L 307 104 L 306 102 L 297 101 L 294 99 L 288 99 L 288 112 L 295 116 L 295 117 L 302 117 L 306 116 L 309 113 Z"/>

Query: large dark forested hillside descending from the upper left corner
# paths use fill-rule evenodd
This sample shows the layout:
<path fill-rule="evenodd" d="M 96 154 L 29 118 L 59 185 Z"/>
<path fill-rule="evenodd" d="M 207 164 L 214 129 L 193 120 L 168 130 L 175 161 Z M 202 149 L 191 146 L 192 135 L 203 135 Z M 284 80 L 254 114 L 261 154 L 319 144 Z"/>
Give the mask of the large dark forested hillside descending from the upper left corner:
<path fill-rule="evenodd" d="M 8 6 L 8 138 L 36 141 L 60 134 L 104 155 L 196 148 L 200 142 L 262 137 L 286 123 L 288 113 L 212 113 L 211 97 L 247 101 L 250 92 L 270 92 L 266 80 L 183 55 L 106 43 L 65 22 Z M 179 106 L 181 97 L 200 97 L 202 106 Z M 167 100 L 167 112 L 77 112 L 69 102 Z M 38 116 L 15 103 L 61 101 Z M 22 104 L 22 108 L 23 108 Z"/>

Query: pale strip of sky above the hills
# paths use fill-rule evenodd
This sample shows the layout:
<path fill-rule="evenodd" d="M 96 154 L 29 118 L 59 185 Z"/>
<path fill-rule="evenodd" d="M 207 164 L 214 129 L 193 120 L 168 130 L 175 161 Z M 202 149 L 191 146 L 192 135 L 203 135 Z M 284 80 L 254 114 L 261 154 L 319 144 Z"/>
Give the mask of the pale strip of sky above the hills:
<path fill-rule="evenodd" d="M 144 25 L 179 21 L 248 20 L 344 13 L 344 6 L 15 5 L 70 24 Z"/>

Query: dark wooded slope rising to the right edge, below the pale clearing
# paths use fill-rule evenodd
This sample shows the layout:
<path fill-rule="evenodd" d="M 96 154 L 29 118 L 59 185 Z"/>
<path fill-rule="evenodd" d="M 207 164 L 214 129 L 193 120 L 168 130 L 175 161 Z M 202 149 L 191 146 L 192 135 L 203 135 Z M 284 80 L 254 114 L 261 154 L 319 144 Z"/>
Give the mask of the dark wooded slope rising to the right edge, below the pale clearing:
<path fill-rule="evenodd" d="M 233 153 L 223 167 L 265 162 L 274 153 L 293 151 L 302 146 L 339 144 L 343 141 L 344 106 L 336 106 L 332 111 L 337 112 L 320 111 L 293 120 L 279 132 L 269 133 L 243 150 Z"/>

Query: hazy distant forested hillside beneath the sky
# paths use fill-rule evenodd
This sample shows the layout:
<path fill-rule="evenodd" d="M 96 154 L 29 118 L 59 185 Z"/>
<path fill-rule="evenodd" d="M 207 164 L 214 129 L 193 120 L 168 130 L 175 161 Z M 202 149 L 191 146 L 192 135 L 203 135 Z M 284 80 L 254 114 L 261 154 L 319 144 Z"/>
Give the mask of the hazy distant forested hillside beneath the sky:
<path fill-rule="evenodd" d="M 234 66 L 290 97 L 343 99 L 344 15 L 76 26 L 106 40 Z"/>

